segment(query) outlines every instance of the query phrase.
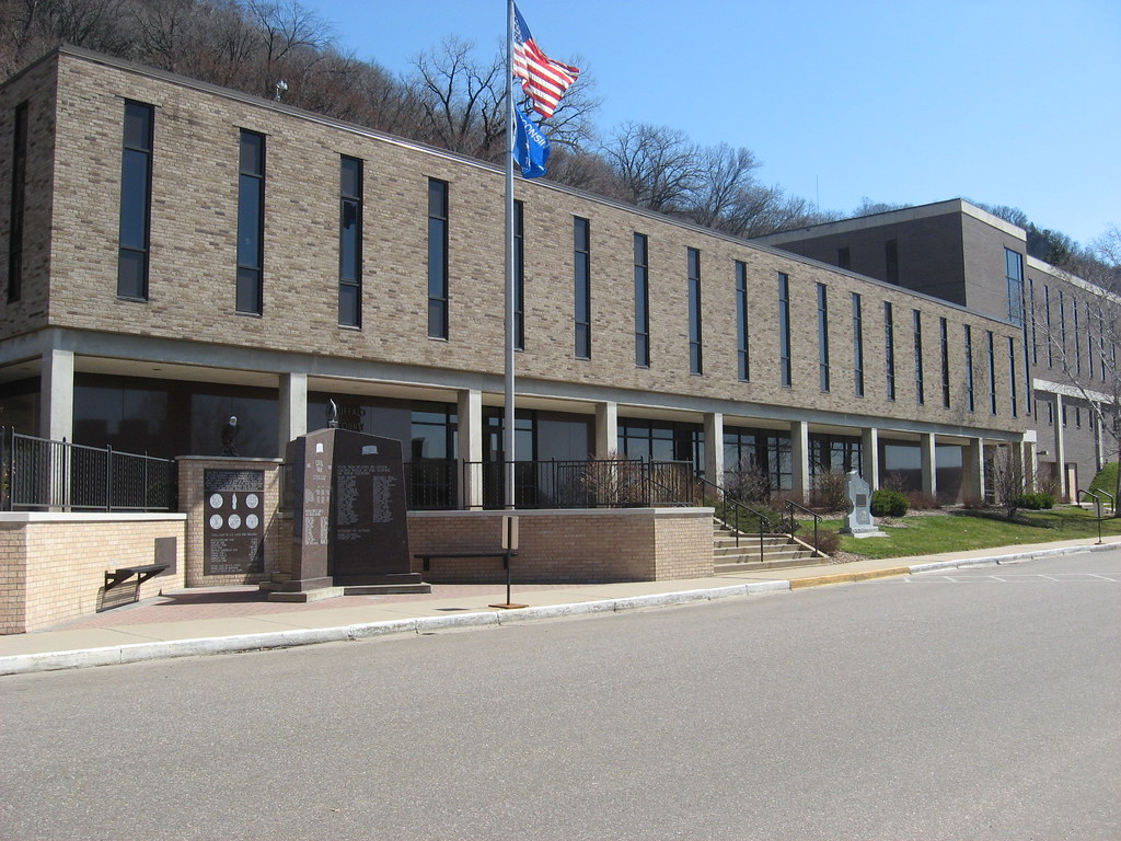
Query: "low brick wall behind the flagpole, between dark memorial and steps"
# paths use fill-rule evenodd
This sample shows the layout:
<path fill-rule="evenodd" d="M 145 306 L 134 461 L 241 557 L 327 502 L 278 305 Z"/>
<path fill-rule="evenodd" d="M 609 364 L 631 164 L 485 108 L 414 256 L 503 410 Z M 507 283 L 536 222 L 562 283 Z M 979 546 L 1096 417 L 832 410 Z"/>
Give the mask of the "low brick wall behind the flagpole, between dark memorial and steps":
<path fill-rule="evenodd" d="M 413 511 L 409 551 L 465 552 L 501 545 L 502 511 Z M 518 511 L 513 580 L 522 583 L 665 581 L 712 575 L 711 508 Z M 436 558 L 433 583 L 506 581 L 501 558 Z"/>

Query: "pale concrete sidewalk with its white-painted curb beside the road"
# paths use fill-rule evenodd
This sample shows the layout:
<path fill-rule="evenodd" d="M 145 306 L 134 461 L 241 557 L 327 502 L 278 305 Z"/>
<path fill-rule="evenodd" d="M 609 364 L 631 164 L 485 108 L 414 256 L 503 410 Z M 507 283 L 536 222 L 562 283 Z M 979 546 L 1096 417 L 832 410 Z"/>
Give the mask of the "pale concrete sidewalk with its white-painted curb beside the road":
<path fill-rule="evenodd" d="M 1103 544 L 1091 538 L 682 581 L 516 583 L 512 600 L 527 607 L 513 610 L 492 607 L 506 600 L 501 584 L 435 584 L 430 594 L 353 595 L 309 603 L 263 601 L 252 586 L 177 590 L 50 630 L 0 637 L 0 675 L 497 627 L 1119 546 L 1121 537 Z"/>

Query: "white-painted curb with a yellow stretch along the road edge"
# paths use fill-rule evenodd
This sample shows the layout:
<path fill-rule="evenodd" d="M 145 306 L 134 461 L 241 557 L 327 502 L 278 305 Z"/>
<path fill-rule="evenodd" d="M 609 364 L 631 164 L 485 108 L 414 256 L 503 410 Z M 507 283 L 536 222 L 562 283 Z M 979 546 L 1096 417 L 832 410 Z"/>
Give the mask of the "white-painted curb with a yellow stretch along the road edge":
<path fill-rule="evenodd" d="M 565 619 L 569 617 L 593 616 L 596 613 L 618 613 L 641 608 L 668 607 L 688 604 L 697 601 L 714 601 L 732 597 L 752 595 L 759 593 L 780 592 L 784 590 L 803 590 L 810 586 L 841 584 L 874 579 L 915 575 L 938 570 L 953 570 L 967 566 L 989 566 L 1013 561 L 1034 561 L 1053 555 L 1072 554 L 1076 552 L 1102 552 L 1117 549 L 1118 544 L 1092 544 L 1088 546 L 1065 547 L 1054 549 L 1036 549 L 1009 555 L 991 557 L 974 557 L 957 561 L 936 561 L 911 566 L 895 566 L 883 570 L 868 570 L 855 573 L 834 573 L 816 575 L 793 581 L 762 581 L 751 584 L 733 584 L 730 586 L 711 588 L 707 590 L 685 590 L 674 593 L 652 593 L 649 595 L 629 595 L 620 599 L 603 599 L 600 601 L 573 602 L 571 604 L 547 604 L 536 608 L 524 608 L 512 611 L 483 610 L 454 616 L 417 617 L 415 619 L 391 619 L 381 622 L 346 625 L 335 628 L 299 628 L 265 634 L 245 634 L 233 637 L 202 637 L 197 639 L 174 639 L 160 643 L 133 643 L 103 648 L 85 648 L 71 651 L 44 651 L 39 654 L 17 654 L 0 657 L 0 676 L 34 674 L 37 672 L 56 672 L 66 668 L 89 668 L 91 666 L 112 666 L 126 663 L 143 663 L 146 660 L 170 659 L 173 657 L 197 657 L 214 654 L 234 654 L 243 651 L 263 651 L 275 648 L 296 648 L 323 643 L 346 643 L 359 639 L 372 639 L 397 634 L 435 634 L 442 630 L 460 628 L 498 628 L 506 625 L 518 625 L 545 619 Z"/>

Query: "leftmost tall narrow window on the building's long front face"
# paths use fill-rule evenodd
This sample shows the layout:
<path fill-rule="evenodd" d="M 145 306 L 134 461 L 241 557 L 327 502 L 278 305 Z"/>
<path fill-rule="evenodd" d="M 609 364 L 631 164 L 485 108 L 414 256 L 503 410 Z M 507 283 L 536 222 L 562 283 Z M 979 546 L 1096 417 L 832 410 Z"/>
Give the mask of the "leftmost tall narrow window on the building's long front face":
<path fill-rule="evenodd" d="M 151 105 L 124 102 L 120 240 L 117 251 L 117 294 L 122 298 L 148 297 L 152 122 Z"/>

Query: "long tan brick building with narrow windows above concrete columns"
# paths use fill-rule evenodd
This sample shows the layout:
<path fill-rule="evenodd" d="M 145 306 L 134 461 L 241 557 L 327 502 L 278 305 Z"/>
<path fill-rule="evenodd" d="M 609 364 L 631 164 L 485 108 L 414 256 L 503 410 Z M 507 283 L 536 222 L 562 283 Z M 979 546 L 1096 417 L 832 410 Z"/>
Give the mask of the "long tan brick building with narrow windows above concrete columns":
<path fill-rule="evenodd" d="M 493 501 L 460 465 L 502 459 L 502 194 L 482 161 L 59 48 L 0 87 L 0 419 L 206 456 L 235 415 L 240 454 L 276 458 L 334 400 L 452 465 L 444 503 Z M 1030 348 L 974 294 L 964 227 L 965 264 L 915 252 L 951 289 L 855 242 L 837 267 L 555 184 L 517 198 L 519 461 L 751 463 L 803 496 L 855 466 L 952 500 L 993 447 L 1034 458 Z"/>

